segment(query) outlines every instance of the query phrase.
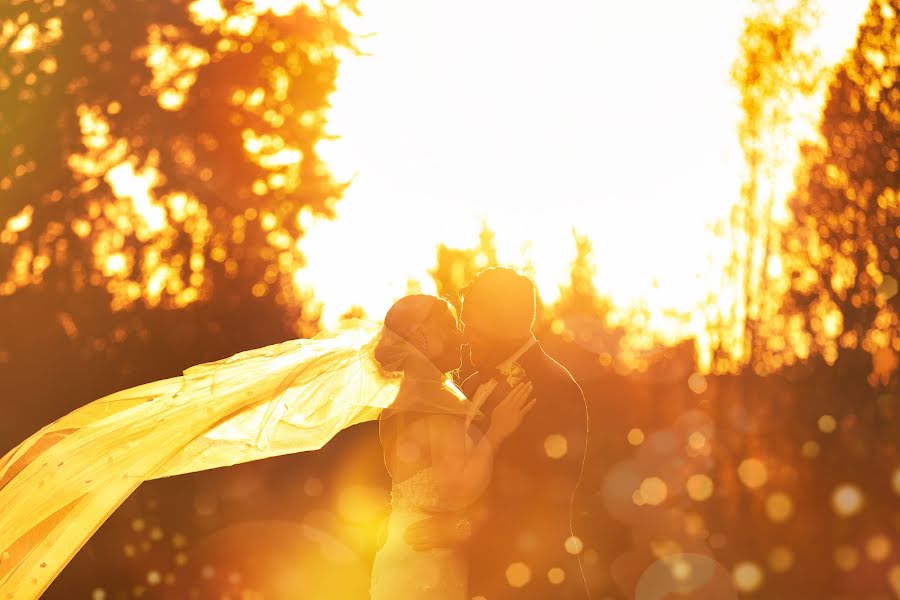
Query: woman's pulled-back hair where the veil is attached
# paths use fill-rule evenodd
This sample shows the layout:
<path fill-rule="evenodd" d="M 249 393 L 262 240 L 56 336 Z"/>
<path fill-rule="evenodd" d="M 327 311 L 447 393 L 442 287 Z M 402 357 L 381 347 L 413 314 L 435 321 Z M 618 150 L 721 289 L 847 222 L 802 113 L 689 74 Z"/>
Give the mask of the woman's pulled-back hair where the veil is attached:
<path fill-rule="evenodd" d="M 416 351 L 410 335 L 441 310 L 450 310 L 455 315 L 449 302 L 427 294 L 406 296 L 391 306 L 384 316 L 384 327 L 374 354 L 382 370 L 387 373 L 403 370 L 406 358 Z"/>

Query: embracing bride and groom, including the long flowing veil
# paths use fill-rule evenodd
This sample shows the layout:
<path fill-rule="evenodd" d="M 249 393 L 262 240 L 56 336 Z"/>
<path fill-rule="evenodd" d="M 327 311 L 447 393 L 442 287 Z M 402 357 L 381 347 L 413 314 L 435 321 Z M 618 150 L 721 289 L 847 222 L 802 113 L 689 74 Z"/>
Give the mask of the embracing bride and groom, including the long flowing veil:
<path fill-rule="evenodd" d="M 372 600 L 588 598 L 573 528 L 587 406 L 536 339 L 534 284 L 397 301 L 95 400 L 0 459 L 0 600 L 37 598 L 150 479 L 321 448 L 377 420 L 391 513 Z M 453 374 L 467 344 L 477 371 Z M 297 590 L 302 598 L 302 590 Z"/>

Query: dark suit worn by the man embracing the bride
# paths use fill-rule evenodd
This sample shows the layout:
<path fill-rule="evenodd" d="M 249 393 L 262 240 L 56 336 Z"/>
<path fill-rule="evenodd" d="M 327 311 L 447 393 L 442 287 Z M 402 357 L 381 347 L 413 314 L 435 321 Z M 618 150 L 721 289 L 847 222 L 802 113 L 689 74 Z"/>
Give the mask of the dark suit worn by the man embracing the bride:
<path fill-rule="evenodd" d="M 517 363 L 534 384 L 537 403 L 494 458 L 491 484 L 479 503 L 488 508 L 487 516 L 475 524 L 468 543 L 469 595 L 487 600 L 586 599 L 579 556 L 572 553 L 581 550 L 578 540 L 569 540 L 566 547 L 587 442 L 584 394 L 540 343 Z M 499 385 L 481 406 L 487 418 L 510 390 L 503 376 L 482 371 L 463 383 L 463 391 L 473 398 L 491 379 Z M 474 425 L 487 429 L 485 421 Z"/>

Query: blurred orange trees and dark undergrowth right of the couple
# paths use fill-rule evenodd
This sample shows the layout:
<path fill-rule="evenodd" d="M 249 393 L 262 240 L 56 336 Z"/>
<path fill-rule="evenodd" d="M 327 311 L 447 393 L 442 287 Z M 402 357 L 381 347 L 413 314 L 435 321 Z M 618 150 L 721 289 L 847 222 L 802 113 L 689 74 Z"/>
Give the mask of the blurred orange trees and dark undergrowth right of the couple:
<path fill-rule="evenodd" d="M 720 584 L 760 598 L 900 594 L 900 4 L 871 2 L 834 71 L 805 43 L 812 3 L 755 6 L 733 72 L 747 170 L 725 230 L 740 293 L 710 322 L 713 373 L 696 372 L 690 342 L 618 368 L 628 348 L 577 235 L 571 283 L 541 307 L 539 337 L 591 410 L 586 545 L 599 551 L 592 577 L 606 593 L 634 590 L 661 563 L 656 591 L 679 597 L 729 597 Z M 817 139 L 803 143 L 786 187 L 785 132 L 802 133 L 792 104 L 822 92 Z M 785 195 L 786 218 L 776 206 Z M 433 275 L 456 299 L 496 264 L 486 233 L 477 248 L 440 248 Z M 607 497 L 622 481 L 643 513 Z M 710 575 L 689 554 L 726 567 Z M 692 587 L 685 565 L 707 583 Z"/>

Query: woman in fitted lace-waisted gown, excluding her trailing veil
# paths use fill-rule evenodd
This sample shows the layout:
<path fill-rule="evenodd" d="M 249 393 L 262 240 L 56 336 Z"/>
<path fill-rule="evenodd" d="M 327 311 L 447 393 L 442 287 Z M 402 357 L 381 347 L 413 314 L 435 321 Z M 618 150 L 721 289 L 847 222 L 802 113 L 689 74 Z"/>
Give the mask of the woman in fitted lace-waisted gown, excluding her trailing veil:
<path fill-rule="evenodd" d="M 481 496 L 494 450 L 534 406 L 531 384 L 517 386 L 497 405 L 490 426 L 474 444 L 466 430 L 480 413 L 444 376 L 461 364 L 462 332 L 452 306 L 433 296 L 408 296 L 388 311 L 384 327 L 375 358 L 385 370 L 401 371 L 403 383 L 394 404 L 379 417 L 393 486 L 387 539 L 372 568 L 371 597 L 467 600 L 462 543 L 471 524 L 458 523 L 456 548 L 418 551 L 404 532 L 416 521 L 459 511 Z"/>

